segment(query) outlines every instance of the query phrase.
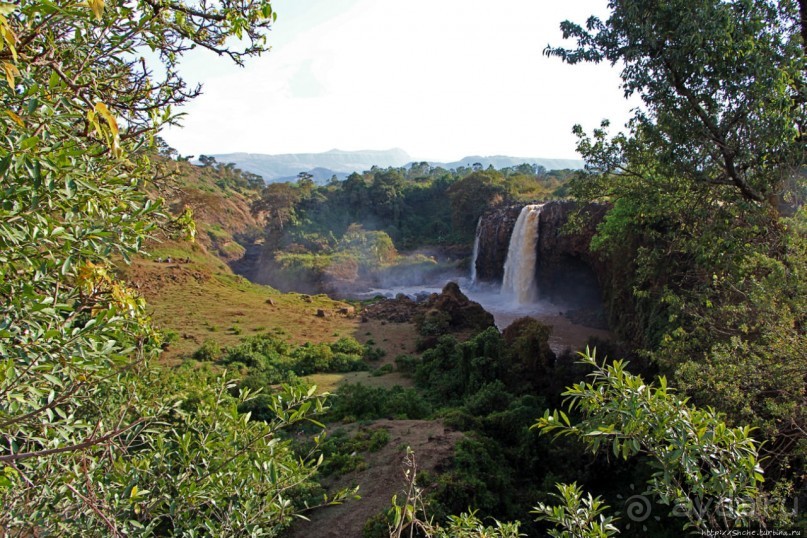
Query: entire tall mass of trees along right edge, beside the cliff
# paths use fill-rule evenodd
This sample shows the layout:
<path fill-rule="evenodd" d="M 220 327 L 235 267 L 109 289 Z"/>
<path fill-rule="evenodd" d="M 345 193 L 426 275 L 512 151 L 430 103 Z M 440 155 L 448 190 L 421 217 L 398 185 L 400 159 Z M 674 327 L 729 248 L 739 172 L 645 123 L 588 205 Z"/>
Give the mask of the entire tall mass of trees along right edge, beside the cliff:
<path fill-rule="evenodd" d="M 807 404 L 805 4 L 612 0 L 564 22 L 569 63 L 622 67 L 626 133 L 577 126 L 573 193 L 611 209 L 617 328 L 699 405 L 760 428 L 766 486 L 803 487 Z"/>

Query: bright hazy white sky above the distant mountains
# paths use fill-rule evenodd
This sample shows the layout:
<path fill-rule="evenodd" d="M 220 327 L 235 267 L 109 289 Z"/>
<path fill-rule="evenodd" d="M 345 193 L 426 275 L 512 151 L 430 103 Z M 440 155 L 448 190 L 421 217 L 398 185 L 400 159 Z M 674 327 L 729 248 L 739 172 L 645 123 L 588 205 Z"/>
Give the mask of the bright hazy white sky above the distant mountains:
<path fill-rule="evenodd" d="M 204 94 L 183 155 L 399 147 L 417 160 L 574 158 L 571 128 L 621 126 L 630 104 L 608 65 L 547 58 L 559 23 L 606 15 L 605 0 L 275 0 L 272 50 L 245 68 L 186 62 Z"/>

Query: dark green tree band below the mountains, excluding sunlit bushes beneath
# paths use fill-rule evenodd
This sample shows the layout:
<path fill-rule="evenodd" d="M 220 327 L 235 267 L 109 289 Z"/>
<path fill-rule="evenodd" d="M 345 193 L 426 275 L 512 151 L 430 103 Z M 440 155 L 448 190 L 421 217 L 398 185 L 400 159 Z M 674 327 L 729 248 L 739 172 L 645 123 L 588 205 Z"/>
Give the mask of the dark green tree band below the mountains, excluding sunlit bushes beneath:
<path fill-rule="evenodd" d="M 265 214 L 270 237 L 285 248 L 295 244 L 327 251 L 360 226 L 384 232 L 402 250 L 413 250 L 468 242 L 479 215 L 491 205 L 551 197 L 569 175 L 528 164 L 445 170 L 413 163 L 408 168 L 373 167 L 317 186 L 301 173 L 296 183 L 268 185 L 255 210 Z"/>

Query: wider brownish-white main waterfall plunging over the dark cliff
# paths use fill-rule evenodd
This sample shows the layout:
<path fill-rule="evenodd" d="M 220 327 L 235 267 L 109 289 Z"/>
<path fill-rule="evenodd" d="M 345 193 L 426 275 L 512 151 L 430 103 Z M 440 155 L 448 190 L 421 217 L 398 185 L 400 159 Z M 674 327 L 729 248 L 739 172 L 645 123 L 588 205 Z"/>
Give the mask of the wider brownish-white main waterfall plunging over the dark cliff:
<path fill-rule="evenodd" d="M 542 207 L 543 204 L 524 206 L 510 236 L 501 293 L 517 304 L 531 303 L 536 299 L 535 262 L 538 259 L 538 217 Z"/>

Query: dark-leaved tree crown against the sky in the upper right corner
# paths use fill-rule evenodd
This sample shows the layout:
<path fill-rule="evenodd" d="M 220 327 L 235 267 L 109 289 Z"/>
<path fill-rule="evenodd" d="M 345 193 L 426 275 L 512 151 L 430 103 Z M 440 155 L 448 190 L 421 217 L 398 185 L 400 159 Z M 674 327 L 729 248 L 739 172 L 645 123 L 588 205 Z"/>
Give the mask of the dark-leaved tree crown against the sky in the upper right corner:
<path fill-rule="evenodd" d="M 592 17 L 585 29 L 561 25 L 576 49 L 546 50 L 571 64 L 621 63 L 626 96 L 642 99 L 632 136 L 609 142 L 599 132 L 591 141 L 576 128 L 588 165 L 605 174 L 677 177 L 755 203 L 793 196 L 787 187 L 804 164 L 807 119 L 807 43 L 797 6 L 612 0 L 609 7 L 608 20 Z M 647 153 L 654 155 L 650 169 L 639 158 Z"/>

